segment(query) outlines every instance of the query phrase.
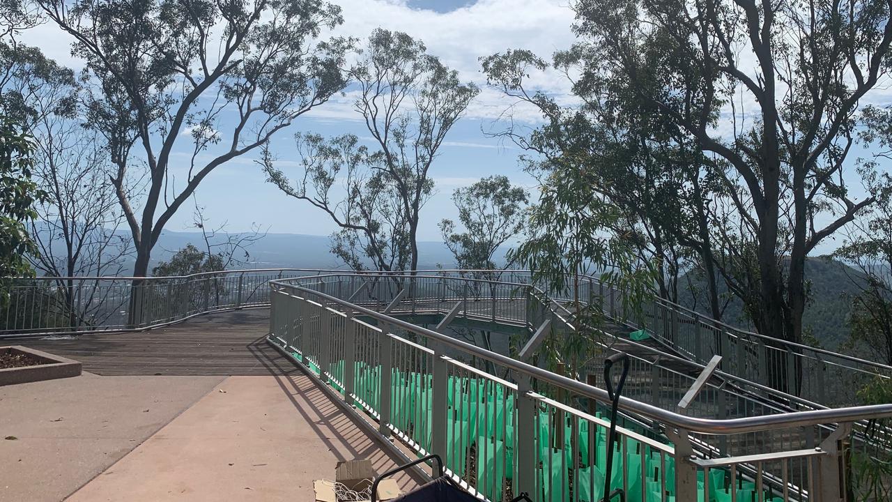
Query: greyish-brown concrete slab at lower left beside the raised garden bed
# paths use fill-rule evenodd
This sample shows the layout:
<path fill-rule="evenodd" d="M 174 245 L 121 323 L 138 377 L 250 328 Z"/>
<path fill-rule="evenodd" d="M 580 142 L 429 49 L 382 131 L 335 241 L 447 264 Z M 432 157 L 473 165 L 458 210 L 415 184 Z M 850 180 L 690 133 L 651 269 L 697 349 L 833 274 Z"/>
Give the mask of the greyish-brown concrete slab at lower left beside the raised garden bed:
<path fill-rule="evenodd" d="M 0 387 L 0 502 L 66 498 L 222 380 L 85 372 Z"/>

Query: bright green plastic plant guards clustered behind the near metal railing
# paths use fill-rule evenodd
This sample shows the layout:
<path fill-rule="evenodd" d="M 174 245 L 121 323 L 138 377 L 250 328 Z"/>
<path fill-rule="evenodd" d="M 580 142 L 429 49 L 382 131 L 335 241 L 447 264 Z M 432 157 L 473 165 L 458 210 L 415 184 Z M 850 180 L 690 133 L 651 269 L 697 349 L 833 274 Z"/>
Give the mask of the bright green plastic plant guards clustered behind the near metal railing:
<path fill-rule="evenodd" d="M 634 334 L 634 333 L 633 333 Z M 298 360 L 307 364 L 313 372 L 319 374 L 317 364 L 293 353 Z M 332 374 L 343 375 L 343 361 L 332 364 Z M 380 409 L 381 367 L 358 362 L 355 366 L 354 394 L 372 409 Z M 343 392 L 343 387 L 331 382 L 335 388 Z M 432 377 L 419 372 L 403 372 L 391 370 L 391 423 L 397 429 L 408 433 L 422 448 L 430 450 L 431 446 L 431 388 Z M 500 500 L 505 493 L 502 480 L 512 481 L 514 477 L 514 410 L 515 396 L 506 395 L 505 388 L 491 381 L 477 378 L 450 376 L 448 382 L 447 405 L 447 451 L 442 454 L 444 463 L 450 470 L 464 480 L 474 478 L 475 487 L 483 496 L 491 500 Z M 359 403 L 358 403 L 359 404 Z M 604 418 L 597 414 L 599 418 Z M 606 419 L 605 419 L 606 420 Z M 607 428 L 599 424 L 580 421 L 577 424 L 578 444 L 575 445 L 579 460 L 579 468 L 573 465 L 573 427 L 565 424 L 563 448 L 555 448 L 552 434 L 556 424 L 554 415 L 541 411 L 538 417 L 537 486 L 541 489 L 541 500 L 561 502 L 569 500 L 570 490 L 578 490 L 581 502 L 598 502 L 603 497 L 604 473 L 607 470 Z M 589 427 L 595 427 L 592 435 Z M 626 428 L 630 428 L 626 425 Z M 644 431 L 638 431 L 643 433 Z M 589 464 L 590 444 L 594 439 L 594 462 Z M 625 454 L 617 446 L 614 453 L 613 475 L 611 486 L 623 486 L 624 466 L 628 473 L 626 500 L 629 502 L 657 502 L 668 500 L 674 502 L 675 469 L 674 458 L 661 458 L 657 452 L 645 451 L 644 445 L 634 439 L 625 441 Z M 643 462 L 643 465 L 642 465 Z M 665 468 L 665 481 L 661 469 Z M 578 479 L 571 480 L 571 473 Z M 644 481 L 642 492 L 642 475 Z M 763 498 L 757 498 L 756 486 L 750 481 L 738 479 L 731 483 L 730 475 L 723 469 L 712 469 L 709 472 L 708 502 L 731 502 L 732 490 L 736 490 L 734 499 L 739 502 L 764 500 L 780 502 L 782 498 L 764 491 Z M 698 502 L 706 502 L 704 473 L 698 472 Z M 665 483 L 665 484 L 664 484 Z M 733 486 L 732 486 L 733 485 Z M 661 495 L 665 489 L 665 498 Z M 572 499 L 576 499 L 574 494 Z"/>

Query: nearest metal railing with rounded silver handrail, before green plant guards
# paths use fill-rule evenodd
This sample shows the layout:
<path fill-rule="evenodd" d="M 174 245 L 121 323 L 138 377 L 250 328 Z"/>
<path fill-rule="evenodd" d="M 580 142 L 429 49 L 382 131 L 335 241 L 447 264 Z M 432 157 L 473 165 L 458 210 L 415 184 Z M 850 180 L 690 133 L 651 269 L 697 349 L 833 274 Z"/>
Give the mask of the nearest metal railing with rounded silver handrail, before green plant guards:
<path fill-rule="evenodd" d="M 443 454 L 450 472 L 483 497 L 500 499 L 501 489 L 507 486 L 507 473 L 513 472 L 512 479 L 518 484 L 512 489 L 524 489 L 537 498 L 549 500 L 574 499 L 568 498 L 570 491 L 582 489 L 581 483 L 592 472 L 591 467 L 584 466 L 584 461 L 574 459 L 597 454 L 574 443 L 574 439 L 566 439 L 566 444 L 562 439 L 556 444 L 554 436 L 567 428 L 571 431 L 567 434 L 570 438 L 578 438 L 579 431 L 583 430 L 597 437 L 597 431 L 606 424 L 599 418 L 597 406 L 591 403 L 607 404 L 607 392 L 392 315 L 418 314 L 425 310 L 442 312 L 458 297 L 448 297 L 444 289 L 437 289 L 437 281 L 467 284 L 468 280 L 417 275 L 401 278 L 412 281 L 411 288 L 426 293 L 413 300 L 409 293 L 400 296 L 399 291 L 409 288 L 405 282 L 401 285 L 396 277 L 387 280 L 375 277 L 375 286 L 358 284 L 359 277 L 326 275 L 272 281 L 270 339 L 310 371 L 318 372 L 322 381 L 330 382 L 348 403 L 359 403 L 378 421 L 381 431 L 395 434 L 419 453 Z M 475 284 L 486 291 L 486 282 Z M 509 285 L 514 289 L 511 294 L 518 298 L 517 290 L 524 289 L 524 284 Z M 367 297 L 359 297 L 360 288 L 371 292 Z M 397 293 L 385 294 L 376 288 L 391 288 Z M 451 288 L 456 289 L 460 288 Z M 443 294 L 433 295 L 432 290 Z M 349 299 L 345 298 L 345 292 L 349 292 Z M 419 298 L 431 300 L 432 297 L 437 302 L 418 302 Z M 500 300 L 504 299 L 500 295 L 482 297 L 492 311 L 476 308 L 475 314 L 496 312 Z M 521 291 L 519 297 L 526 302 L 532 295 Z M 535 303 L 527 306 L 534 307 Z M 508 310 L 516 312 L 510 307 Z M 475 361 L 488 361 L 490 369 Z M 500 377 L 501 374 L 509 375 L 509 380 Z M 462 389 L 448 390 L 458 381 L 466 382 Z M 412 382 L 424 382 L 418 387 L 420 397 L 419 391 L 409 392 L 414 397 L 406 397 L 403 389 L 413 385 Z M 458 422 L 450 422 L 449 417 L 458 414 L 465 405 L 459 405 L 461 399 L 450 398 L 449 394 L 466 392 L 467 382 L 472 388 L 483 385 L 483 389 L 491 389 L 487 391 L 491 396 L 488 400 L 475 397 L 472 401 L 477 403 L 474 406 L 487 407 L 483 421 L 490 414 L 499 416 L 501 410 L 510 415 L 506 415 L 504 423 L 510 423 L 513 433 L 508 434 L 508 426 L 503 424 L 502 433 L 497 427 L 496 431 L 478 436 L 473 431 L 463 432 Z M 590 402 L 588 412 L 574 406 L 580 400 Z M 629 473 L 629 467 L 624 465 L 625 488 L 633 490 L 636 478 L 639 487 L 645 482 L 659 482 L 663 488 L 673 485 L 673 497 L 678 500 L 697 500 L 698 490 L 700 497 L 704 492 L 709 493 L 709 488 L 702 483 L 713 479 L 713 473 L 718 470 L 722 470 L 726 493 L 730 480 L 734 494 L 739 493 L 738 483 L 741 487 L 744 482 L 755 483 L 753 486 L 758 488 L 747 493 L 758 492 L 758 499 L 767 499 L 765 487 L 773 487 L 773 493 L 782 500 L 830 499 L 834 493 L 840 493 L 840 483 L 845 482 L 845 472 L 839 469 L 844 463 L 840 462 L 838 440 L 849 434 L 854 423 L 892 416 L 892 405 L 755 414 L 731 419 L 676 413 L 631 397 L 622 398 L 620 406 L 626 414 L 649 422 L 649 432 L 658 432 L 654 436 L 646 430 L 636 431 L 632 426 L 621 428 L 621 448 L 624 453 L 632 451 L 627 458 L 637 458 L 641 465 L 640 475 Z M 447 418 L 441 419 L 441 416 Z M 469 436 L 463 439 L 462 434 Z M 672 439 L 673 445 L 666 445 L 659 434 Z M 511 461 L 504 453 L 501 460 L 498 455 L 494 460 L 491 456 L 481 456 L 481 449 L 490 444 L 496 452 L 510 447 L 514 452 Z M 634 453 L 634 449 L 639 453 Z M 554 460 L 553 456 L 560 458 Z M 476 473 L 468 467 L 472 457 L 477 465 Z M 652 476 L 648 472 L 650 467 L 644 467 L 645 459 L 648 464 L 654 461 L 663 465 L 663 469 L 657 470 L 656 481 L 649 480 Z M 548 469 L 554 473 L 553 462 L 563 463 L 558 465 L 557 472 L 566 471 L 567 479 L 575 481 L 560 481 L 559 474 L 558 478 L 546 481 L 551 474 L 543 472 Z M 673 468 L 666 468 L 667 464 L 673 464 Z M 487 479 L 486 473 L 490 472 L 494 479 Z M 698 480 L 703 481 L 698 484 Z M 558 485 L 562 490 L 559 497 L 549 493 Z M 659 498 L 654 499 L 669 499 L 669 491 L 657 491 Z M 768 493 L 772 493 L 770 488 Z"/>

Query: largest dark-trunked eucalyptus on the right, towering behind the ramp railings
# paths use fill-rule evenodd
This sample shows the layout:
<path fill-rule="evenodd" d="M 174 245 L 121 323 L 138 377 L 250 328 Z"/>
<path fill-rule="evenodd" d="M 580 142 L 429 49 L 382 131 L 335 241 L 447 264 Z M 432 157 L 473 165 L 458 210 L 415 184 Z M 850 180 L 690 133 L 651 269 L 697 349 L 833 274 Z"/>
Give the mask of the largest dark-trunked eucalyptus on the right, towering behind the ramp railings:
<path fill-rule="evenodd" d="M 860 104 L 887 75 L 890 8 L 877 0 L 574 4 L 577 93 L 611 96 L 618 113 L 652 110 L 704 151 L 702 177 L 731 202 L 728 213 L 712 214 L 715 246 L 743 271 L 726 279 L 773 338 L 802 341 L 806 256 L 877 203 L 851 190 L 869 168 L 856 169 L 850 154 Z"/>

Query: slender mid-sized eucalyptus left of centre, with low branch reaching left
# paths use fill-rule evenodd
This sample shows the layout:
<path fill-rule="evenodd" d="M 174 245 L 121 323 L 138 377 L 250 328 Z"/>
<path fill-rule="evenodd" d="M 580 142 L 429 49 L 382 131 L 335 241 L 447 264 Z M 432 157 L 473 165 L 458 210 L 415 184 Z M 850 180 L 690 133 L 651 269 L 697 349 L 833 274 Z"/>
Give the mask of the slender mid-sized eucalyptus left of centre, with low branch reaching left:
<path fill-rule="evenodd" d="M 340 230 L 332 251 L 345 264 L 415 271 L 419 215 L 434 189 L 431 168 L 478 89 L 427 54 L 421 41 L 386 29 L 372 32 L 350 77 L 358 96 L 353 105 L 372 145 L 355 135 L 298 135 L 295 180 L 268 150 L 263 169 L 285 194 L 335 222 Z"/>

